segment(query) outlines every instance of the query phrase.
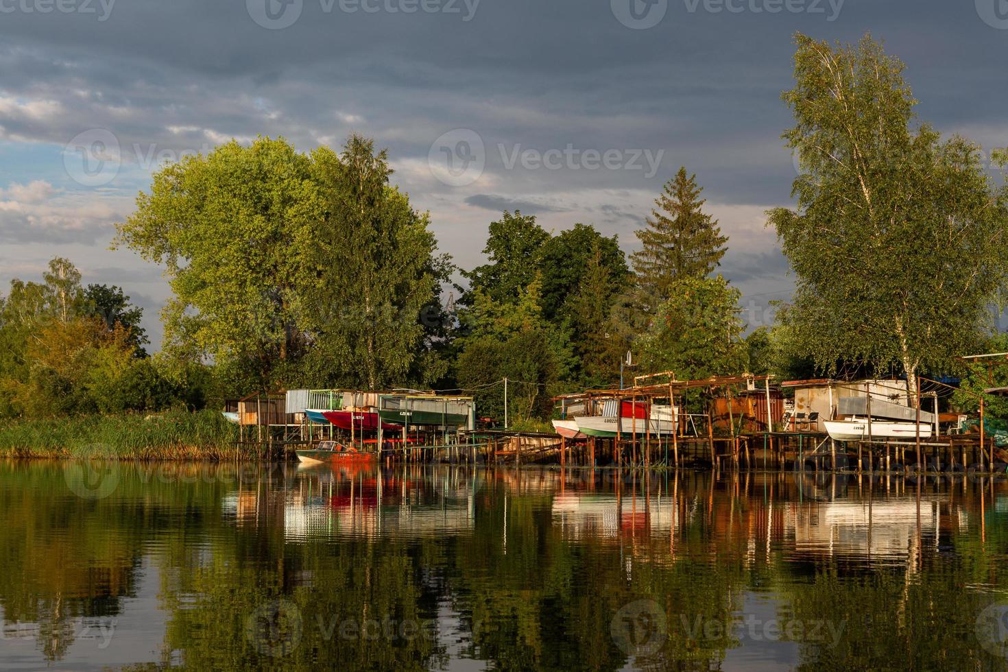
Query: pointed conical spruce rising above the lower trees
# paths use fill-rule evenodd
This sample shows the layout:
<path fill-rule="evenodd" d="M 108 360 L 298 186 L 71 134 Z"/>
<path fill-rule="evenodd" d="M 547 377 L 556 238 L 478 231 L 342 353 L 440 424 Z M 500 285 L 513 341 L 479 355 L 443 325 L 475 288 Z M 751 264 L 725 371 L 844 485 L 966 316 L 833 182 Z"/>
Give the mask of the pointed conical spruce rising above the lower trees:
<path fill-rule="evenodd" d="M 656 199 L 647 228 L 637 231 L 643 249 L 630 256 L 638 282 L 652 303 L 671 298 L 671 288 L 685 278 L 710 275 L 725 256 L 727 236 L 717 220 L 701 209 L 703 188 L 684 167 L 668 180 Z"/>

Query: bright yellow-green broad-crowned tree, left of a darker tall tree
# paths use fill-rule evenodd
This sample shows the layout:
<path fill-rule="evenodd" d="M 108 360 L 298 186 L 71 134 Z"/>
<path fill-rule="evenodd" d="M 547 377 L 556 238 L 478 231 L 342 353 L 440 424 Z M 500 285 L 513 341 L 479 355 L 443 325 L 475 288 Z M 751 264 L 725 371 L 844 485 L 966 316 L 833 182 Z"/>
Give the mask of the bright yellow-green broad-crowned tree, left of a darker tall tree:
<path fill-rule="evenodd" d="M 164 348 L 259 385 L 306 346 L 326 212 L 312 160 L 283 139 L 229 142 L 154 174 L 117 241 L 164 264 Z"/>

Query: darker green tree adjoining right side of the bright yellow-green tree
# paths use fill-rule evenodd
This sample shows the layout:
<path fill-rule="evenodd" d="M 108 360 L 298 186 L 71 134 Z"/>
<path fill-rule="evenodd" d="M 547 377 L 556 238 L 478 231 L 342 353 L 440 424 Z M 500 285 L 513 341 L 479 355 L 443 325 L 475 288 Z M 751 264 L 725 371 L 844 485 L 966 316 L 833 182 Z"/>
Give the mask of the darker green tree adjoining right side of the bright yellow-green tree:
<path fill-rule="evenodd" d="M 320 148 L 312 157 L 326 205 L 313 380 L 378 390 L 440 378 L 448 363 L 435 342 L 449 317 L 438 296 L 453 267 L 435 255 L 429 216 L 389 184 L 387 154 L 371 140 L 352 136 L 342 154 Z"/>

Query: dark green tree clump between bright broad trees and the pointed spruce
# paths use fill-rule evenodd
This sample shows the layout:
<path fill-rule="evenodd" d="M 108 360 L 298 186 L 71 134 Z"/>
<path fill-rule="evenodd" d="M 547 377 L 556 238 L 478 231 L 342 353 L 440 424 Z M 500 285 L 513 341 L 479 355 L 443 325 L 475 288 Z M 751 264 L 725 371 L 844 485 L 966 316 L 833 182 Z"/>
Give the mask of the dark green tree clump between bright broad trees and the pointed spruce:
<path fill-rule="evenodd" d="M 503 419 L 504 378 L 511 424 L 548 417 L 555 393 L 615 382 L 622 351 L 610 321 L 630 281 L 615 236 L 584 224 L 552 236 L 505 212 L 484 254 L 466 273 L 456 344 L 458 385 L 476 392 L 481 415 Z"/>

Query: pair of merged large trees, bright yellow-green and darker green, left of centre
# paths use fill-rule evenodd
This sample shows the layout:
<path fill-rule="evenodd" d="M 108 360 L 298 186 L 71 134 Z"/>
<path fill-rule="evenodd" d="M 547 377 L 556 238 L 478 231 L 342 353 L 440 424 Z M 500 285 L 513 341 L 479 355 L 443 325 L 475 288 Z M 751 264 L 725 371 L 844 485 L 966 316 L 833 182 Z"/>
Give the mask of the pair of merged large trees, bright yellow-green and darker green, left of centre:
<path fill-rule="evenodd" d="M 213 361 L 231 393 L 444 371 L 423 316 L 450 265 L 391 172 L 358 136 L 340 154 L 230 142 L 161 169 L 118 241 L 167 267 L 166 350 Z"/>

